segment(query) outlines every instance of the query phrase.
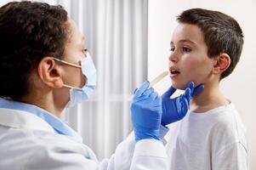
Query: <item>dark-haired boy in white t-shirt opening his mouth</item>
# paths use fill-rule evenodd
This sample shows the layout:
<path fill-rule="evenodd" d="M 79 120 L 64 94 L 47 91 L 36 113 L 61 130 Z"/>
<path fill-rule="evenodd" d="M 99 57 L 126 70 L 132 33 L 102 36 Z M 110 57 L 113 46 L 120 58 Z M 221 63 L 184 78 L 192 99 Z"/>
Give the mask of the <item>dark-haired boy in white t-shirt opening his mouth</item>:
<path fill-rule="evenodd" d="M 174 88 L 204 84 L 190 111 L 169 125 L 171 170 L 247 170 L 247 138 L 234 105 L 219 90 L 242 53 L 242 29 L 230 16 L 202 8 L 177 18 L 169 71 Z"/>

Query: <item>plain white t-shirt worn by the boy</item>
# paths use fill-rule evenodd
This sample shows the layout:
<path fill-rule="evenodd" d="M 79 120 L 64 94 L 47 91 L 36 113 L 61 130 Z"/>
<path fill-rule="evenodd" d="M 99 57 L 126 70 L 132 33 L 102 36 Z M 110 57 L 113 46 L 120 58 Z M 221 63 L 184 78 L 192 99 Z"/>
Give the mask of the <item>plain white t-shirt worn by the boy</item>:
<path fill-rule="evenodd" d="M 168 125 L 166 136 L 171 170 L 247 170 L 245 127 L 234 105 L 205 113 L 188 112 Z"/>

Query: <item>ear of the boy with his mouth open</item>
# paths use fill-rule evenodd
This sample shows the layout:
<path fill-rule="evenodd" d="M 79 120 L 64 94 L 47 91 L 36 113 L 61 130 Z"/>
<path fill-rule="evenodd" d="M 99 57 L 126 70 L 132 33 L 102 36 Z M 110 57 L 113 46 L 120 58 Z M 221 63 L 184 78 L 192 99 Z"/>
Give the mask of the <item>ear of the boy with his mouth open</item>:
<path fill-rule="evenodd" d="M 230 66 L 230 55 L 219 54 L 218 57 L 213 59 L 213 74 L 221 74 Z"/>

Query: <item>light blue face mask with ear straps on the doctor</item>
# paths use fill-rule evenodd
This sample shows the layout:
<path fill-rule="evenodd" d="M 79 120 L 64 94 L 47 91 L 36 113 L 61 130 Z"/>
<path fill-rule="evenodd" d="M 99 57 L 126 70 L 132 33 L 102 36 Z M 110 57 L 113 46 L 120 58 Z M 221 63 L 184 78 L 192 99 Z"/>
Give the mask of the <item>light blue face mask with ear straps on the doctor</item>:
<path fill-rule="evenodd" d="M 82 101 L 85 101 L 89 98 L 89 96 L 94 92 L 97 82 L 97 74 L 94 66 L 94 61 L 91 58 L 90 54 L 86 54 L 86 58 L 82 59 L 81 65 L 75 65 L 69 62 L 66 62 L 61 59 L 56 59 L 66 65 L 75 66 L 82 69 L 82 74 L 87 78 L 86 84 L 82 88 L 75 88 L 69 85 L 64 84 L 64 87 L 71 88 L 70 89 L 70 101 L 66 105 L 66 107 L 72 107 Z M 55 58 L 54 58 L 55 59 Z"/>

